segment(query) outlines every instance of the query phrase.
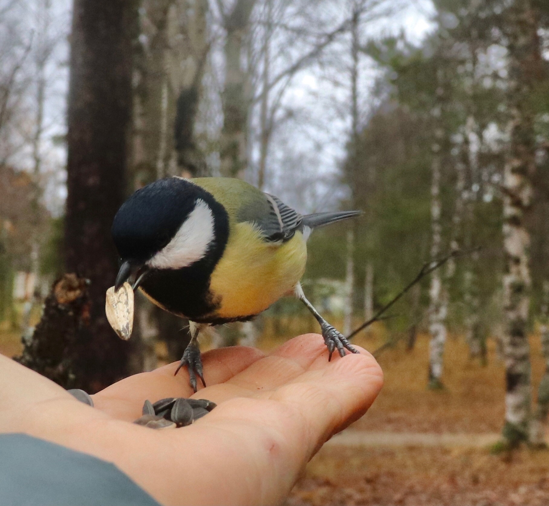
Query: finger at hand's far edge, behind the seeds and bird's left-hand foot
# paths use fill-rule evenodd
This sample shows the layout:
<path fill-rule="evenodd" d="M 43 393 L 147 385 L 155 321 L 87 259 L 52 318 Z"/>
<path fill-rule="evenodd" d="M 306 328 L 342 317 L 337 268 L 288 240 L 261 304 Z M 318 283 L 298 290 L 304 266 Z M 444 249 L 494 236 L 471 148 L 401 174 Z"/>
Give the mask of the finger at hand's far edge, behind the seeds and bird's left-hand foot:
<path fill-rule="evenodd" d="M 206 385 L 223 383 L 262 357 L 259 350 L 244 346 L 212 349 L 202 355 Z M 177 366 L 174 362 L 114 383 L 92 396 L 94 405 L 115 418 L 131 421 L 141 416 L 145 399 L 155 402 L 165 397 L 190 397 L 193 390 L 188 371 L 182 369 L 174 376 Z M 200 392 L 195 397 L 200 397 Z"/>

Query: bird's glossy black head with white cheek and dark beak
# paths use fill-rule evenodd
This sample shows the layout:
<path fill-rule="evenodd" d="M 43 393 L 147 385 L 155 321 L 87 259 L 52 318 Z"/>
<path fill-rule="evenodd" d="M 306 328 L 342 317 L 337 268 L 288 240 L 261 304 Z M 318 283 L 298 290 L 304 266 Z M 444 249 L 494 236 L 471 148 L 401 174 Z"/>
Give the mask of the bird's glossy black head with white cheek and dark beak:
<path fill-rule="evenodd" d="M 181 269 L 204 258 L 216 244 L 224 248 L 228 218 L 209 192 L 170 177 L 133 193 L 116 213 L 111 230 L 122 260 L 117 290 L 132 274 Z"/>

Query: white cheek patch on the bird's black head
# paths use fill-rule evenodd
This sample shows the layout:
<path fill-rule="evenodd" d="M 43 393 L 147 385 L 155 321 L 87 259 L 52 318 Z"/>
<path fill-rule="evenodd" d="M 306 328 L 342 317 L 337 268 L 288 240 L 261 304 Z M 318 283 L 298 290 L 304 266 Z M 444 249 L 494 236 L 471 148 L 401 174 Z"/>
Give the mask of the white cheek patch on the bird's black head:
<path fill-rule="evenodd" d="M 187 267 L 204 258 L 214 238 L 214 215 L 208 204 L 198 199 L 176 235 L 147 265 L 154 269 Z"/>

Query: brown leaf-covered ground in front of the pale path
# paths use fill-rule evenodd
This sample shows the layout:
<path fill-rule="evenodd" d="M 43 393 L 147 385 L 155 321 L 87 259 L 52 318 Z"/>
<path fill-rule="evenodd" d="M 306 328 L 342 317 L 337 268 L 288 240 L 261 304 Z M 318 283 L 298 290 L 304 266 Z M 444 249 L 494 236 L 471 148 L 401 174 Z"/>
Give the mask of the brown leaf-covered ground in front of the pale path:
<path fill-rule="evenodd" d="M 324 448 L 294 487 L 297 505 L 549 504 L 547 451 L 490 455 L 482 449 Z"/>

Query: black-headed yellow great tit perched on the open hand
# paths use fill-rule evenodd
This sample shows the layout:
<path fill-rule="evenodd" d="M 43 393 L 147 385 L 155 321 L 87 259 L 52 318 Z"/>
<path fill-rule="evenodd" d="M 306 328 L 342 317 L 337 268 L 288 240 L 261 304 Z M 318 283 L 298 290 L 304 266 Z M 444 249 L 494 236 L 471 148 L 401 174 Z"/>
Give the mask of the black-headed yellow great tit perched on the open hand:
<path fill-rule="evenodd" d="M 189 320 L 186 366 L 204 386 L 198 336 L 206 326 L 249 321 L 292 295 L 318 321 L 328 348 L 358 353 L 307 300 L 301 277 L 307 238 L 317 227 L 360 211 L 301 215 L 281 199 L 230 177 L 166 177 L 139 188 L 117 211 L 111 234 L 120 256 L 115 292 L 125 282 Z"/>

